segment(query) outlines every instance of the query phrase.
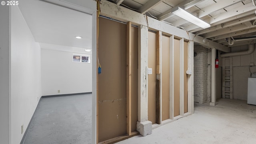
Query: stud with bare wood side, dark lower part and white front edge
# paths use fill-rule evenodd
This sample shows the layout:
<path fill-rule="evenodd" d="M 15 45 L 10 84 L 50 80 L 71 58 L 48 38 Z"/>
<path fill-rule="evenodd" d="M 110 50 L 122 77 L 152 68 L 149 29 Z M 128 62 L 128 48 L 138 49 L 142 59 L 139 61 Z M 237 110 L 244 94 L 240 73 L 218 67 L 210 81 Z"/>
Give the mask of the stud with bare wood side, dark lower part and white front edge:
<path fill-rule="evenodd" d="M 162 32 L 156 32 L 156 123 L 162 123 Z"/>

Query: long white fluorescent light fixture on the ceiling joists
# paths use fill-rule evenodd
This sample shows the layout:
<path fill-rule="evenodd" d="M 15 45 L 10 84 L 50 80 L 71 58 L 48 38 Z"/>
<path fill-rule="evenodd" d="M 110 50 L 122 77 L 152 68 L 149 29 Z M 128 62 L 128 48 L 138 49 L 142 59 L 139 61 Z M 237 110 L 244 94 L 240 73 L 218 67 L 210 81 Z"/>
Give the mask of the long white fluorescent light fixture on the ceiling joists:
<path fill-rule="evenodd" d="M 201 28 L 209 28 L 211 26 L 180 7 L 172 8 L 172 13 L 184 20 L 187 20 L 188 22 L 191 22 L 192 24 L 200 26 Z"/>

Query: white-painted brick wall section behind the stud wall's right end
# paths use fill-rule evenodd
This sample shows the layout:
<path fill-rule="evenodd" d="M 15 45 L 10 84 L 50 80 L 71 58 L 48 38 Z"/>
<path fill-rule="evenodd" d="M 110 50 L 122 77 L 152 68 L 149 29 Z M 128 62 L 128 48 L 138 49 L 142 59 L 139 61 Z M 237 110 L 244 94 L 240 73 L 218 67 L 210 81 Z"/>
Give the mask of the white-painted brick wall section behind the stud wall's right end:
<path fill-rule="evenodd" d="M 207 48 L 194 46 L 194 102 L 207 102 Z"/>

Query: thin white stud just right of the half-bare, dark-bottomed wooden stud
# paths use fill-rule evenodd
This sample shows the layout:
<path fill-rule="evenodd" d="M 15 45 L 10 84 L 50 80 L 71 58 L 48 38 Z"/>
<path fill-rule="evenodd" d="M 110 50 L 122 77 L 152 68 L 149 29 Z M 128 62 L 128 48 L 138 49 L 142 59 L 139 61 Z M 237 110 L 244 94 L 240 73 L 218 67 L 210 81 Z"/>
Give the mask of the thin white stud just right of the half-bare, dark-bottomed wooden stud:
<path fill-rule="evenodd" d="M 174 118 L 174 36 L 170 36 L 170 119 Z"/>

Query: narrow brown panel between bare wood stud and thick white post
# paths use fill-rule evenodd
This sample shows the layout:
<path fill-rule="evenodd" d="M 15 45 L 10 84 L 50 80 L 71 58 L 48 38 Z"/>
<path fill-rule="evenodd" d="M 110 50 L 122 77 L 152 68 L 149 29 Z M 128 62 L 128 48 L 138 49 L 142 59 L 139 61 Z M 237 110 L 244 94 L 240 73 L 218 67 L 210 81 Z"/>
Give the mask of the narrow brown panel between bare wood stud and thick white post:
<path fill-rule="evenodd" d="M 132 26 L 132 132 L 138 121 L 138 28 Z"/>

